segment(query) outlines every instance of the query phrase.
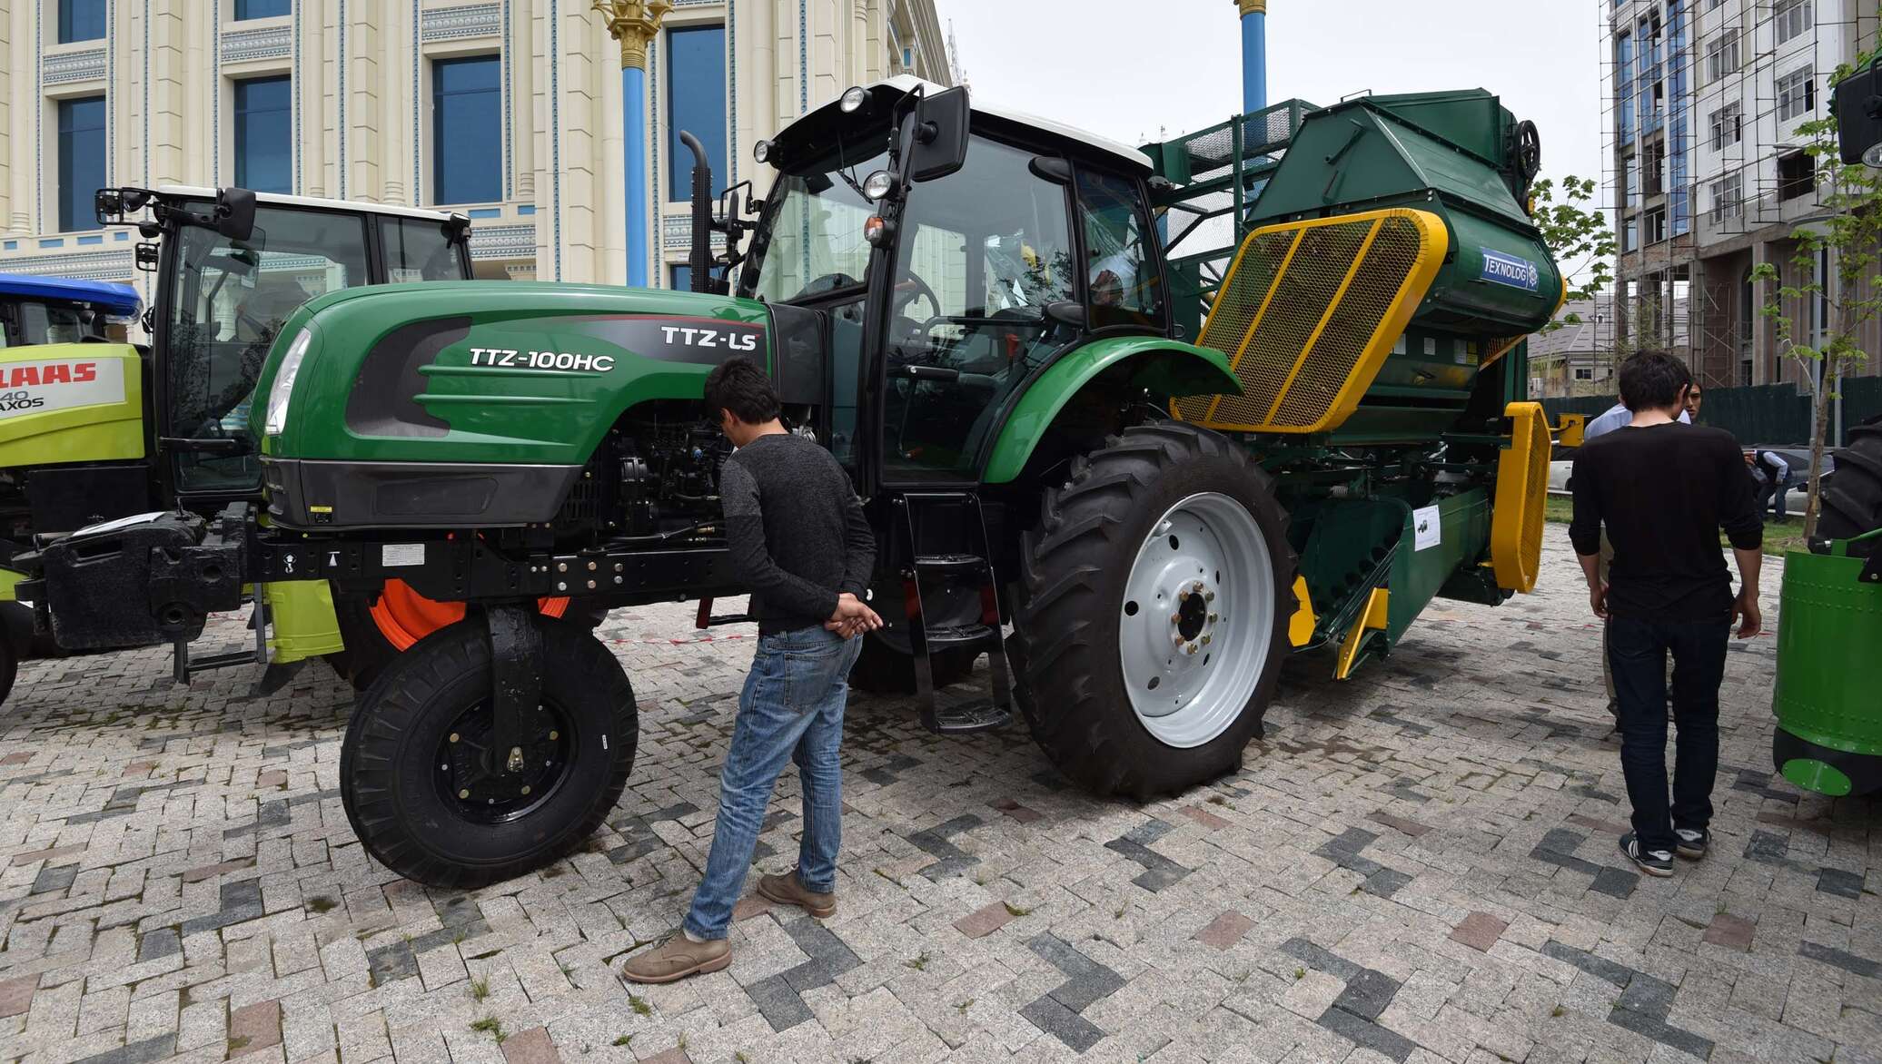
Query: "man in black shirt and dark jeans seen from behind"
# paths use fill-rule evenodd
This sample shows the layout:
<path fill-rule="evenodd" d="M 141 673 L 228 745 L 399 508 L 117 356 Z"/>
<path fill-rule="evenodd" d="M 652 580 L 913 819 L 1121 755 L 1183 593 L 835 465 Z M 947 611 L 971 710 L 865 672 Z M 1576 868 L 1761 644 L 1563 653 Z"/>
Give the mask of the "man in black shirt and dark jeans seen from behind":
<path fill-rule="evenodd" d="M 1718 775 L 1718 684 L 1733 624 L 1750 639 L 1758 613 L 1763 523 L 1750 474 L 1730 432 L 1681 425 L 1692 374 L 1664 352 L 1620 365 L 1620 399 L 1634 423 L 1575 453 L 1568 528 L 1588 579 L 1588 603 L 1607 622 L 1607 664 L 1620 714 L 1620 769 L 1634 831 L 1620 850 L 1652 876 L 1673 874 L 1673 853 L 1703 857 Z M 1602 526 L 1615 545 L 1603 583 Z M 1731 540 L 1743 585 L 1718 547 Z M 1666 780 L 1666 658 L 1673 656 L 1673 799 Z"/>

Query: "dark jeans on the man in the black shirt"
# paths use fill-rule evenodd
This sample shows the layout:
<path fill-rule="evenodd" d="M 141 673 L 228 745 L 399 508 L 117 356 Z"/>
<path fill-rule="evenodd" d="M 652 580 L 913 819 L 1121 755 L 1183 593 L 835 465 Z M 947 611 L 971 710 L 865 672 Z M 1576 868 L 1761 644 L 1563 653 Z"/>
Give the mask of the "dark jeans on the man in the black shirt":
<path fill-rule="evenodd" d="M 1673 850 L 1675 827 L 1705 831 L 1718 775 L 1718 682 L 1731 620 L 1607 622 L 1607 664 L 1620 703 L 1620 771 L 1643 850 Z M 1666 658 L 1673 656 L 1673 801 L 1666 786 Z"/>

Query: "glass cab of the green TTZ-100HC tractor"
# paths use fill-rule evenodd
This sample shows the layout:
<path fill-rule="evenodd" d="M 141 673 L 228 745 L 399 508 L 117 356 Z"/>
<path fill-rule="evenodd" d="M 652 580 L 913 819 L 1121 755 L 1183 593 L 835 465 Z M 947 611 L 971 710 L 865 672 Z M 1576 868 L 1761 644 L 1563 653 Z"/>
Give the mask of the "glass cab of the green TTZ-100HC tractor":
<path fill-rule="evenodd" d="M 1093 335 L 1169 336 L 1150 160 L 915 77 L 758 145 L 738 295 L 826 321 L 826 425 L 868 494 L 975 485 L 1024 385 Z"/>

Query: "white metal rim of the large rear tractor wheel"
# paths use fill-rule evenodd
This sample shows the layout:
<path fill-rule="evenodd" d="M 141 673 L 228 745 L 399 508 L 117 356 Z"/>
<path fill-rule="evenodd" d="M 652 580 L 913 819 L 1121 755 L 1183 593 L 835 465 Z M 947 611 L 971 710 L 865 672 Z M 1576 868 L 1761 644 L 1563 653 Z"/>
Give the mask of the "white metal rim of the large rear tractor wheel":
<path fill-rule="evenodd" d="M 1255 696 L 1274 632 L 1274 562 L 1248 509 L 1220 493 L 1169 508 L 1137 549 L 1118 609 L 1131 709 L 1167 746 L 1221 735 Z"/>

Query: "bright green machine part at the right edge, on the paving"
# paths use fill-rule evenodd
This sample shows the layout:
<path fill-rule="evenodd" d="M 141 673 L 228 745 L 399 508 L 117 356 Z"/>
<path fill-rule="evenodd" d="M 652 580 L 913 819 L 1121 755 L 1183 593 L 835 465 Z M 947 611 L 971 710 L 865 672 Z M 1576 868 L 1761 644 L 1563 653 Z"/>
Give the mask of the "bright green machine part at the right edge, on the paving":
<path fill-rule="evenodd" d="M 1827 555 L 1784 555 L 1771 759 L 1803 790 L 1882 790 L 1882 579 L 1865 581 L 1841 540 Z M 1878 573 L 1882 575 L 1882 573 Z"/>

